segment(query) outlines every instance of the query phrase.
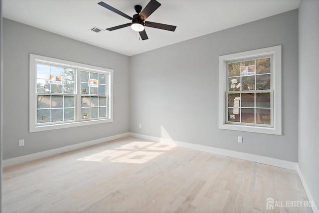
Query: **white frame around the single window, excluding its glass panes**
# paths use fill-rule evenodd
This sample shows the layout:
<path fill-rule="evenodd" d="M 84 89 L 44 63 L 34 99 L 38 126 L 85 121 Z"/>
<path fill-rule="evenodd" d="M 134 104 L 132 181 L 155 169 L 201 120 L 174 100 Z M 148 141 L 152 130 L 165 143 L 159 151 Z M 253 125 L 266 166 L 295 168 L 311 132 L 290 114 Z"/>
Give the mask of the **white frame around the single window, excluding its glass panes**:
<path fill-rule="evenodd" d="M 272 70 L 271 70 L 271 121 L 272 125 L 247 125 L 240 123 L 227 122 L 227 107 L 228 98 L 226 97 L 228 87 L 228 68 L 229 61 L 245 60 L 250 58 L 257 58 L 269 55 L 272 56 Z M 218 123 L 220 129 L 255 132 L 273 135 L 282 135 L 282 91 L 281 91 L 281 45 L 245 51 L 240 53 L 228 54 L 219 56 L 219 117 Z"/>

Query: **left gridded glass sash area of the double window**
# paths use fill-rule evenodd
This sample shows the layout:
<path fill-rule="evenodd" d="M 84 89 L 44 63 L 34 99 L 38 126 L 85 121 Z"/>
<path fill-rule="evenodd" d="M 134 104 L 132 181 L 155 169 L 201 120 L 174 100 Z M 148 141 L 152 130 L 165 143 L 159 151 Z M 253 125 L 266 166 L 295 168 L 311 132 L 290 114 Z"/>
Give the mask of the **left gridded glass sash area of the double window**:
<path fill-rule="evenodd" d="M 75 71 L 58 64 L 36 62 L 36 126 L 75 120 Z"/>

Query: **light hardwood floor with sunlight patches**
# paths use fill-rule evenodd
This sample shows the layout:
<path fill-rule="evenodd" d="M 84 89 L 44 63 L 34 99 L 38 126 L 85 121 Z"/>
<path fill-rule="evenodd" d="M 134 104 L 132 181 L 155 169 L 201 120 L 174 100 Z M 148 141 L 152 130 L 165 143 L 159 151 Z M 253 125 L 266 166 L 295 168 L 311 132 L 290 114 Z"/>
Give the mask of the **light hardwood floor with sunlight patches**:
<path fill-rule="evenodd" d="M 3 169 L 4 213 L 300 212 L 296 171 L 127 137 Z M 280 203 L 281 202 L 281 203 Z"/>

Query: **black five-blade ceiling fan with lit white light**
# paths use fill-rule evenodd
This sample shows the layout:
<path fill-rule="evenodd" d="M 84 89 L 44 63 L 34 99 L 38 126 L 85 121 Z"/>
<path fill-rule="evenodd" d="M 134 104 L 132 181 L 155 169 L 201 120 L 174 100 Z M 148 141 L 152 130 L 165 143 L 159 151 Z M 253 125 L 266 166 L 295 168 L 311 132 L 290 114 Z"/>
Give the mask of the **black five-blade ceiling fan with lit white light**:
<path fill-rule="evenodd" d="M 107 28 L 106 30 L 109 30 L 109 31 L 113 31 L 116 29 L 121 29 L 123 27 L 131 26 L 133 30 L 140 33 L 142 40 L 146 40 L 146 39 L 149 39 L 149 37 L 146 34 L 144 26 L 149 26 L 149 27 L 164 29 L 164 30 L 169 30 L 169 31 L 175 31 L 175 29 L 176 29 L 176 26 L 173 26 L 173 25 L 146 21 L 146 19 L 155 10 L 157 10 L 157 8 L 160 7 L 161 4 L 157 0 L 151 0 L 143 10 L 142 10 L 141 5 L 135 5 L 134 8 L 135 8 L 135 11 L 137 12 L 137 14 L 133 15 L 133 17 L 121 12 L 120 10 L 110 6 L 109 4 L 104 3 L 103 1 L 100 1 L 98 4 L 117 13 L 117 14 L 119 14 L 119 15 L 122 15 L 123 17 L 126 17 L 127 19 L 132 20 L 130 23 L 125 23 L 122 25 Z"/>

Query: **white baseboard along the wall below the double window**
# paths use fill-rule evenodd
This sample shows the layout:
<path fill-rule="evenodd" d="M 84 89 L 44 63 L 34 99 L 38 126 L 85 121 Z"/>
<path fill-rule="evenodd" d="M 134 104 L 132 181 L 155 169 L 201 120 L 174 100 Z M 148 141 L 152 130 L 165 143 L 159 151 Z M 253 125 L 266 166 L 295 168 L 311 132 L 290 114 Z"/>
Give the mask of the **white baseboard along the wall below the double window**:
<path fill-rule="evenodd" d="M 20 156 L 20 157 L 16 157 L 16 158 L 10 158 L 10 159 L 6 159 L 6 160 L 2 161 L 2 167 L 8 167 L 8 166 L 16 165 L 16 164 L 21 164 L 21 163 L 25 163 L 28 161 L 33 161 L 36 159 L 45 158 L 48 156 L 57 155 L 57 154 L 61 154 L 64 152 L 69 152 L 72 150 L 81 149 L 84 147 L 88 147 L 88 146 L 92 146 L 92 145 L 96 145 L 96 144 L 101 144 L 104 142 L 113 141 L 113 140 L 128 137 L 128 136 L 129 136 L 129 133 L 123 133 L 123 134 L 119 134 L 119 135 L 109 136 L 106 138 L 100 138 L 100 139 L 96 139 L 96 140 L 92 140 L 92 141 L 74 144 L 74 145 L 70 145 L 70 146 L 66 146 L 66 147 L 61 147 L 61 148 L 57 148 L 57 149 L 33 153 L 30 155 L 24 155 L 24 156 Z"/>

